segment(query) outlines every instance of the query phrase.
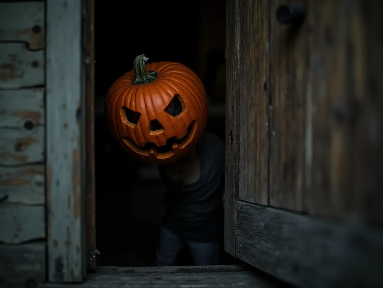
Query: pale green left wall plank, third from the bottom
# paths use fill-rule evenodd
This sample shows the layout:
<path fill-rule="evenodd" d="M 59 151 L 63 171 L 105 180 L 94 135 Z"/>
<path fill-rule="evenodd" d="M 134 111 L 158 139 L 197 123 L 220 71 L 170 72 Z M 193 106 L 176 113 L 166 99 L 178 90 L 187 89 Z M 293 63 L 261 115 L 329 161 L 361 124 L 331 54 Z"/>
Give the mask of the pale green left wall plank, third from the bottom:
<path fill-rule="evenodd" d="M 44 165 L 0 167 L 0 194 L 8 195 L 7 203 L 45 203 Z"/>

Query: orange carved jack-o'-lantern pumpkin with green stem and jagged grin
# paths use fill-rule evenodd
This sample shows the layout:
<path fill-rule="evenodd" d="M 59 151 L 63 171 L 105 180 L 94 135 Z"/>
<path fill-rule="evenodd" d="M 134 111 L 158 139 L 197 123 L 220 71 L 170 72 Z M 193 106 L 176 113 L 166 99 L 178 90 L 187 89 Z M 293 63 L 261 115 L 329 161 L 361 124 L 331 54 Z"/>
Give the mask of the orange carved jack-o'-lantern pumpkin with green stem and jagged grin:
<path fill-rule="evenodd" d="M 207 119 L 206 92 L 185 65 L 146 61 L 137 56 L 134 69 L 113 83 L 105 114 L 125 151 L 166 164 L 182 158 L 200 139 Z"/>

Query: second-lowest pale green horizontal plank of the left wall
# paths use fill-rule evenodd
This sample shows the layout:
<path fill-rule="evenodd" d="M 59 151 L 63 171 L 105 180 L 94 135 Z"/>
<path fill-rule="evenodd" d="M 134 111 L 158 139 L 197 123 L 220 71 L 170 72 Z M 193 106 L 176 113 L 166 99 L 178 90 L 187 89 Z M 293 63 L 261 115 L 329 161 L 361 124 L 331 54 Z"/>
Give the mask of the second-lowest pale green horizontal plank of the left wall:
<path fill-rule="evenodd" d="M 0 205 L 0 243 L 18 244 L 45 237 L 45 207 L 11 204 Z"/>

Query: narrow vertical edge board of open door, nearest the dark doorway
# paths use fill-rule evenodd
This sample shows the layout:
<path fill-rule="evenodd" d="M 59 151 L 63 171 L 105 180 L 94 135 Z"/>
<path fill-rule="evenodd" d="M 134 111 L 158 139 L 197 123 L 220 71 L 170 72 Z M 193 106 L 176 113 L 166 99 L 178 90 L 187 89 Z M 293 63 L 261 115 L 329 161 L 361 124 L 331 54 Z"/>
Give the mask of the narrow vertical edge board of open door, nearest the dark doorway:
<path fill-rule="evenodd" d="M 239 7 L 226 1 L 226 164 L 224 249 L 235 256 L 235 203 L 239 199 Z"/>

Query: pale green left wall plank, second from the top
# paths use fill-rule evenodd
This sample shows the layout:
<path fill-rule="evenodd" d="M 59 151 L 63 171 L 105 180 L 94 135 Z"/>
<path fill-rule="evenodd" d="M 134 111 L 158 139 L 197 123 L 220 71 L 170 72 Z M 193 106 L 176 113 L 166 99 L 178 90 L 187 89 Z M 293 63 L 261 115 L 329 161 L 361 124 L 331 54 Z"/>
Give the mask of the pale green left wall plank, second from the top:
<path fill-rule="evenodd" d="M 23 43 L 0 43 L 0 88 L 44 85 L 44 51 Z"/>

